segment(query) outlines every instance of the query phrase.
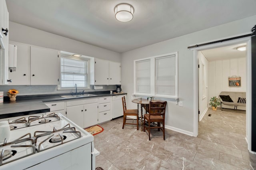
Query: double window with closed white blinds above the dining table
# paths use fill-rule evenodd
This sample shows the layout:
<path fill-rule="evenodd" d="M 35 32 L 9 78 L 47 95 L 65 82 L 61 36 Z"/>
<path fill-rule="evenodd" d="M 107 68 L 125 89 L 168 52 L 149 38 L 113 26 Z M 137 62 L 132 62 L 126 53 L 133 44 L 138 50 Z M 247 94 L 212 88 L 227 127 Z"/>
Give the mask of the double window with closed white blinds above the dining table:
<path fill-rule="evenodd" d="M 134 61 L 134 95 L 178 98 L 178 52 Z"/>

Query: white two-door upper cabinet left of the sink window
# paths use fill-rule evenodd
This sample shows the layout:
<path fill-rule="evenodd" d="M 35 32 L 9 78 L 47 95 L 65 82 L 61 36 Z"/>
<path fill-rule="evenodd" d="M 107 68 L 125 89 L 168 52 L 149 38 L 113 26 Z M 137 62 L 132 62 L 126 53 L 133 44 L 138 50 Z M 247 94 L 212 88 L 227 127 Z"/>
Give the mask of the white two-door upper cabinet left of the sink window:
<path fill-rule="evenodd" d="M 9 85 L 58 85 L 60 58 L 58 50 L 10 42 L 17 46 L 16 71 L 10 72 Z"/>

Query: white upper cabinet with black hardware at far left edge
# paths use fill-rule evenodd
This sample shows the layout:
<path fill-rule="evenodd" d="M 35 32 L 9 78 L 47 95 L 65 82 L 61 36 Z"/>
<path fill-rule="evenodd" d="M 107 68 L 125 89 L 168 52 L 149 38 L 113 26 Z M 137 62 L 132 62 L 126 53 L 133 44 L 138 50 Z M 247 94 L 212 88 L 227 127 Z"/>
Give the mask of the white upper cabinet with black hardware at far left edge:
<path fill-rule="evenodd" d="M 0 85 L 8 84 L 9 13 L 5 0 L 0 0 Z M 3 46 L 3 47 L 2 47 Z"/>

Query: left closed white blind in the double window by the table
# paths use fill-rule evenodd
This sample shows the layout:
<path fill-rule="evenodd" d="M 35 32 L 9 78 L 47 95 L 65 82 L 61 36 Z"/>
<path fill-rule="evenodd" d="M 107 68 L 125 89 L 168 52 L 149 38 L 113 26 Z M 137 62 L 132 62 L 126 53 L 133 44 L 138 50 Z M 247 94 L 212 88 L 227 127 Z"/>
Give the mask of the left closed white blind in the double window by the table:
<path fill-rule="evenodd" d="M 136 92 L 150 93 L 150 59 L 136 61 Z"/>

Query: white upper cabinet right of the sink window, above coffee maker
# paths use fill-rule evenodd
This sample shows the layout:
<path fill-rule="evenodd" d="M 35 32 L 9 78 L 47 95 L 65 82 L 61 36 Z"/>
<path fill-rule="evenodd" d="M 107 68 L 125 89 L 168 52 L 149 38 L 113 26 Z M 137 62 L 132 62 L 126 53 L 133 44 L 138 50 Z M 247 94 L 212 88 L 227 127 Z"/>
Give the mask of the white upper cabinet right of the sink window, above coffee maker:
<path fill-rule="evenodd" d="M 121 84 L 121 64 L 104 59 L 94 58 L 91 69 L 91 85 Z"/>

